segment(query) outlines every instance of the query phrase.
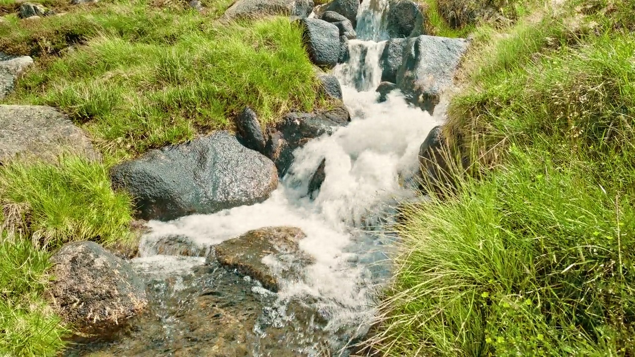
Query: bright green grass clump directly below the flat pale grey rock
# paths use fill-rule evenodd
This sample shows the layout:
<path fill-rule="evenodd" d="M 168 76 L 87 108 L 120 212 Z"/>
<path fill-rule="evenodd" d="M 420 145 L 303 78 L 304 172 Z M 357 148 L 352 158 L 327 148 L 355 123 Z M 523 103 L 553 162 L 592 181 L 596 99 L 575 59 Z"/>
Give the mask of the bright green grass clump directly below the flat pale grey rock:
<path fill-rule="evenodd" d="M 88 159 L 63 156 L 58 165 L 10 161 L 0 166 L 0 199 L 3 226 L 22 229 L 42 248 L 130 238 L 130 197 L 113 192 L 104 166 Z"/>

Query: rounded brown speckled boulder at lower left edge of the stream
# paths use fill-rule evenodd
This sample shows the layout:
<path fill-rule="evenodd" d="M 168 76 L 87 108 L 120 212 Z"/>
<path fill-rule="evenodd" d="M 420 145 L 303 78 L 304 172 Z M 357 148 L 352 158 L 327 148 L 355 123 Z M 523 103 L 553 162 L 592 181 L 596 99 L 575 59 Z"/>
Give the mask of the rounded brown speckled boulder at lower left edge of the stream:
<path fill-rule="evenodd" d="M 108 333 L 147 305 L 144 281 L 130 264 L 95 242 L 64 245 L 51 263 L 51 306 L 81 333 Z"/>

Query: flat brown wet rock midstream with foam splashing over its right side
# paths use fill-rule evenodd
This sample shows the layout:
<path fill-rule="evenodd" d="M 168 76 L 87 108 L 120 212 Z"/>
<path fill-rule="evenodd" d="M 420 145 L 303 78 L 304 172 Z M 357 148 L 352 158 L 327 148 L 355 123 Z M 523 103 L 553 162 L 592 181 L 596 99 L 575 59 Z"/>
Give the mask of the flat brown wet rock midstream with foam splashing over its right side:
<path fill-rule="evenodd" d="M 279 276 L 297 278 L 298 265 L 302 267 L 313 262 L 312 257 L 302 253 L 298 246 L 305 237 L 304 232 L 295 227 L 255 229 L 215 246 L 216 259 L 222 266 L 251 276 L 264 288 L 277 292 L 280 288 Z M 263 262 L 267 255 L 274 255 L 289 264 L 284 264 L 280 271 L 272 269 Z"/>

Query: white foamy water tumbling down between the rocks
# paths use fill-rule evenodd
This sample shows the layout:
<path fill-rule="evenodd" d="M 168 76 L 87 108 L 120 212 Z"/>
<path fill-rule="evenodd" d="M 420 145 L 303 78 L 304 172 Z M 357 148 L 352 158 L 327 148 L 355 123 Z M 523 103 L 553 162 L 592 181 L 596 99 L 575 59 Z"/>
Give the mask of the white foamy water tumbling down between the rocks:
<path fill-rule="evenodd" d="M 375 6 L 382 4 L 377 1 Z M 283 281 L 279 298 L 318 297 L 319 309 L 330 316 L 334 329 L 371 317 L 375 286 L 368 269 L 383 248 L 364 228 L 377 222 L 386 206 L 413 196 L 401 183 L 417 172 L 419 145 L 439 123 L 427 112 L 408 106 L 398 91 L 377 103 L 374 90 L 380 82 L 378 62 L 384 43 L 353 40 L 350 48 L 351 60 L 334 73 L 342 83 L 351 123 L 297 149 L 289 173 L 263 203 L 150 222 L 152 232 L 142 241 L 138 264 L 146 270 L 151 270 L 148 264 L 160 262 L 166 267 L 202 264 L 196 259 L 185 263 L 166 256 L 149 257 L 145 244 L 169 234 L 208 246 L 260 227 L 299 227 L 307 234 L 300 249 L 312 255 L 315 264 L 305 268 L 303 281 Z M 322 159 L 326 159 L 326 179 L 311 200 L 307 187 Z M 264 262 L 272 267 L 278 264 L 272 257 Z"/>

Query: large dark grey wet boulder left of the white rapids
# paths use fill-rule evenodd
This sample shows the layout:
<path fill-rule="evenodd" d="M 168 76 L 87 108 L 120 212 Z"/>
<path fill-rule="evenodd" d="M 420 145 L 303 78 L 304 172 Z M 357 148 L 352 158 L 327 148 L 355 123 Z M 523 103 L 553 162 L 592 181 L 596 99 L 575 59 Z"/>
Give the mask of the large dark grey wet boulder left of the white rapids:
<path fill-rule="evenodd" d="M 158 220 L 260 203 L 278 184 L 273 163 L 227 131 L 147 152 L 110 178 L 137 198 L 138 218 Z"/>

